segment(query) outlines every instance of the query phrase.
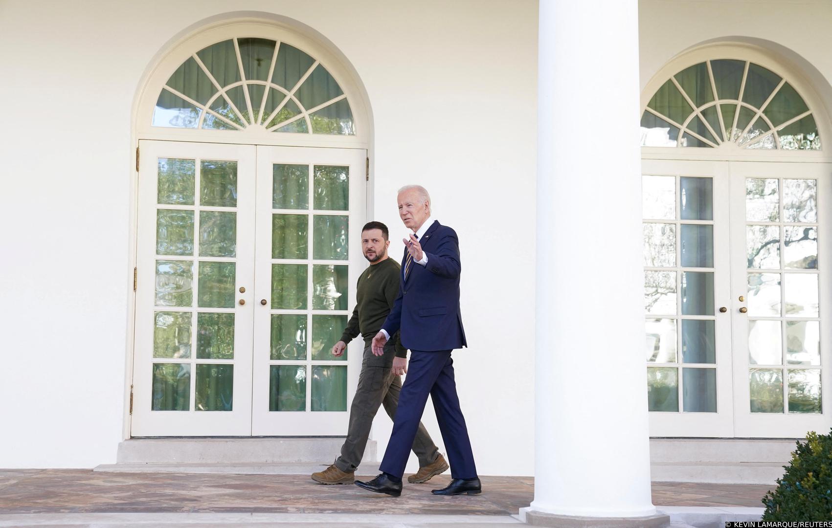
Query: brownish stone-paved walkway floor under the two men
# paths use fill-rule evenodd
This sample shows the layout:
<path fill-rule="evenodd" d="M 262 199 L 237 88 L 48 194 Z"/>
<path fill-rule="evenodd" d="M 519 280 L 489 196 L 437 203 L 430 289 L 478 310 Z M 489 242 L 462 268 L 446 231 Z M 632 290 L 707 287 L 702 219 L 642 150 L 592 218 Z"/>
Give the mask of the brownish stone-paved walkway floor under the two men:
<path fill-rule="evenodd" d="M 449 476 L 408 485 L 393 498 L 305 476 L 0 470 L 0 515 L 20 513 L 344 513 L 517 515 L 534 495 L 526 476 L 483 476 L 478 496 L 434 496 Z M 770 486 L 654 483 L 656 506 L 751 506 Z"/>

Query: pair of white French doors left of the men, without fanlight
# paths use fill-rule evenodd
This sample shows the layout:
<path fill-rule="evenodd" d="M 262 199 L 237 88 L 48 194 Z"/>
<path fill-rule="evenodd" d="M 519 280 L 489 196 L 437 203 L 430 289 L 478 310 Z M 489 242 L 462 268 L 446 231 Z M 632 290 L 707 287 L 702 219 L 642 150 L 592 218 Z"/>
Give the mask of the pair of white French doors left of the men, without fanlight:
<path fill-rule="evenodd" d="M 366 151 L 140 149 L 131 436 L 344 434 Z"/>

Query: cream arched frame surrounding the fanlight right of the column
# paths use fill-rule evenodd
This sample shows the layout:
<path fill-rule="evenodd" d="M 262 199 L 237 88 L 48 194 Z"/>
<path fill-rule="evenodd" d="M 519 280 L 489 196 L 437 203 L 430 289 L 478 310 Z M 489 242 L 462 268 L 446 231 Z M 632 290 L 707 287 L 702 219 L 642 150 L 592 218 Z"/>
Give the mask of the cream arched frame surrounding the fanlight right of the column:
<path fill-rule="evenodd" d="M 747 149 L 740 147 L 734 142 L 726 141 L 717 148 L 696 148 L 696 147 L 666 147 L 666 146 L 642 146 L 641 155 L 644 158 L 654 159 L 696 159 L 696 160 L 790 160 L 790 161 L 832 161 L 832 146 L 829 141 L 832 141 L 832 129 L 830 129 L 830 116 L 827 113 L 826 106 L 823 104 L 817 91 L 813 88 L 812 83 L 807 77 L 800 72 L 793 63 L 779 57 L 767 50 L 745 43 L 723 43 L 710 44 L 695 48 L 689 52 L 684 52 L 680 56 L 667 62 L 661 69 L 659 69 L 651 80 L 647 82 L 646 86 L 641 90 L 641 109 L 639 119 L 647 111 L 647 104 L 650 102 L 652 96 L 662 85 L 669 79 L 673 78 L 676 73 L 685 70 L 688 67 L 695 66 L 701 62 L 714 61 L 719 59 L 734 59 L 740 61 L 751 62 L 765 67 L 777 75 L 782 77 L 782 80 L 788 82 L 794 89 L 803 97 L 805 104 L 809 107 L 811 115 L 815 118 L 815 123 L 820 134 L 821 150 L 820 151 L 785 151 L 778 149 Z M 735 101 L 736 102 L 736 101 Z M 709 103 L 713 104 L 713 103 Z M 740 105 L 743 105 L 740 101 Z M 691 116 L 688 116 L 685 123 L 680 123 L 683 126 L 688 124 L 693 117 L 699 116 L 697 107 L 694 107 Z M 707 106 L 707 105 L 706 105 Z M 753 108 L 755 113 L 759 109 Z M 739 112 L 737 112 L 739 113 Z M 770 121 L 765 117 L 765 114 L 760 113 L 760 118 L 765 119 L 766 124 L 771 126 Z M 778 126 L 782 127 L 782 125 Z M 680 131 L 681 134 L 681 131 Z"/>

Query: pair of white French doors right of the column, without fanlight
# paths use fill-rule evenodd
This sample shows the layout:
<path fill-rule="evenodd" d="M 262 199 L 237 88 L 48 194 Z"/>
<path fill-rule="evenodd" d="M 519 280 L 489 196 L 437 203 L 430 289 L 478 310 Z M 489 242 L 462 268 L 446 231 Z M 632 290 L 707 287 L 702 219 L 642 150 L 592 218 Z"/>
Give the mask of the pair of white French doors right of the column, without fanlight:
<path fill-rule="evenodd" d="M 651 436 L 828 429 L 830 166 L 643 160 L 642 170 Z"/>

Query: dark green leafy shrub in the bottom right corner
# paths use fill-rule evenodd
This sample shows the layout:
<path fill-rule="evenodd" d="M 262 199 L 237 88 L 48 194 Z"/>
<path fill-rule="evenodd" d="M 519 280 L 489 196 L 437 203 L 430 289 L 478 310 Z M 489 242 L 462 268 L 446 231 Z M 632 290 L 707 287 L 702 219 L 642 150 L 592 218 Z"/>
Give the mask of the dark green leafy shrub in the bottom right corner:
<path fill-rule="evenodd" d="M 832 432 L 797 442 L 777 487 L 763 497 L 763 521 L 832 521 Z"/>

